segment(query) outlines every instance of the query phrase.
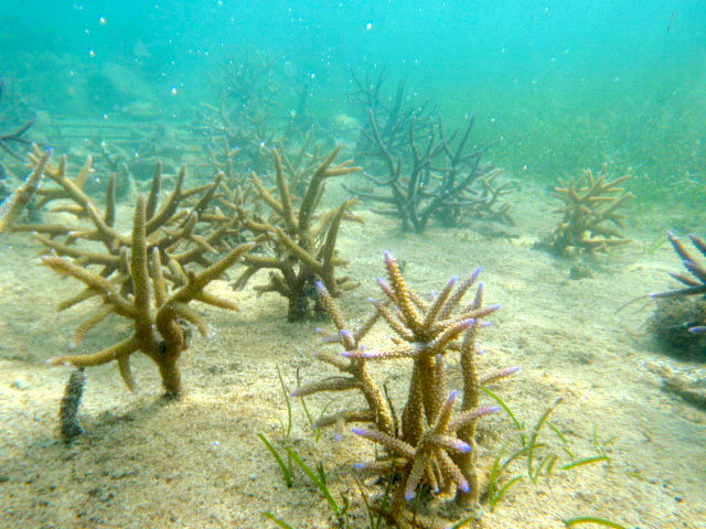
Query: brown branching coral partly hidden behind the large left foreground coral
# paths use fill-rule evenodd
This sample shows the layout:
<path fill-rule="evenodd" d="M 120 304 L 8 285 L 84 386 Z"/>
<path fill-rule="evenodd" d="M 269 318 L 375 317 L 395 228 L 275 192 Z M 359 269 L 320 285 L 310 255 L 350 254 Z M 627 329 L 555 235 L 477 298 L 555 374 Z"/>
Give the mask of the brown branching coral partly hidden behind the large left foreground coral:
<path fill-rule="evenodd" d="M 30 154 L 32 165 L 40 164 L 40 154 L 36 149 Z M 121 248 L 130 248 L 131 240 L 116 227 L 115 173 L 106 179 L 105 206 L 101 207 L 84 191 L 86 180 L 93 174 L 92 165 L 93 159 L 88 156 L 77 174 L 69 177 L 65 155 L 57 164 L 46 162 L 46 181 L 36 192 L 35 210 L 53 206 L 49 209 L 51 213 L 68 213 L 76 217 L 77 223 L 15 225 L 13 229 L 31 231 L 45 247 L 60 256 L 76 259 L 82 266 L 100 267 L 100 276 L 108 278 L 119 269 Z M 174 284 L 186 282 L 184 267 L 210 267 L 212 259 L 207 256 L 218 253 L 218 249 L 227 249 L 227 239 L 239 231 L 237 219 L 207 212 L 216 197 L 221 175 L 216 175 L 211 184 L 190 190 L 184 188 L 185 177 L 186 169 L 182 166 L 174 177 L 172 191 L 160 201 L 164 175 L 161 163 L 158 163 L 146 201 L 148 245 L 159 249 L 160 258 L 168 268 L 165 277 Z M 99 244 L 104 251 L 89 250 L 79 241 Z M 128 277 L 122 279 L 129 283 Z M 121 290 L 129 289 L 126 284 Z"/>

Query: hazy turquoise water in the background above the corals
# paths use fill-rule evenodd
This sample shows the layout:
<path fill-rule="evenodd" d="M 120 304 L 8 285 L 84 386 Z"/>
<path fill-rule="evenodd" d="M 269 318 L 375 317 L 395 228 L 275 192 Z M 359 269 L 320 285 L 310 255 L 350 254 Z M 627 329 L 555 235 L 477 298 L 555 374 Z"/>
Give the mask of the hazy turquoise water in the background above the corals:
<path fill-rule="evenodd" d="M 389 94 L 406 78 L 409 102 L 434 101 L 448 122 L 475 114 L 478 141 L 501 140 L 494 161 L 518 175 L 554 182 L 608 162 L 645 199 L 706 183 L 702 0 L 0 6 L 0 74 L 26 111 L 115 112 L 136 96 L 93 74 L 119 65 L 179 126 L 217 100 L 215 65 L 246 45 L 306 83 L 320 117 L 356 116 L 351 72 L 385 68 Z"/>

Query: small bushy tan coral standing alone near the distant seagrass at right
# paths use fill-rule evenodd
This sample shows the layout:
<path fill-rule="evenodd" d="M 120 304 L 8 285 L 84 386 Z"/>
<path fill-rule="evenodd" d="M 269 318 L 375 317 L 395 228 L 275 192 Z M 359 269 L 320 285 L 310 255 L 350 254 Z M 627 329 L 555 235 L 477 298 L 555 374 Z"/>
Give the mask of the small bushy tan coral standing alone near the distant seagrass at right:
<path fill-rule="evenodd" d="M 632 193 L 620 187 L 630 177 L 607 181 L 608 165 L 603 164 L 598 177 L 589 170 L 579 179 L 559 180 L 559 186 L 552 195 L 564 203 L 553 212 L 561 214 L 561 219 L 537 246 L 564 255 L 569 248 L 592 253 L 630 242 L 622 233 L 627 217 L 618 212 L 634 198 Z"/>

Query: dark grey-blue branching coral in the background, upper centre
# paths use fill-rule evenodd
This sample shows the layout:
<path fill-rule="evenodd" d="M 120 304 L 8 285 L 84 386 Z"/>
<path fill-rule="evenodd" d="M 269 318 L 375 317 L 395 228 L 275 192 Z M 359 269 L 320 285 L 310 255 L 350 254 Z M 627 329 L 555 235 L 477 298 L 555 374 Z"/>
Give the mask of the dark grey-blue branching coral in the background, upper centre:
<path fill-rule="evenodd" d="M 400 83 L 392 105 L 381 100 L 381 86 L 354 76 L 359 90 L 354 101 L 365 107 L 367 126 L 362 129 L 363 155 L 381 160 L 385 176 L 365 173 L 373 190 L 353 188 L 355 195 L 379 204 L 373 212 L 400 220 L 405 230 L 425 231 L 430 219 L 446 225 L 463 218 L 484 218 L 514 224 L 510 205 L 501 197 L 512 192 L 500 182 L 502 171 L 482 163 L 489 147 L 472 150 L 471 118 L 463 129 L 448 136 L 441 118 L 421 108 L 404 108 L 405 84 Z"/>

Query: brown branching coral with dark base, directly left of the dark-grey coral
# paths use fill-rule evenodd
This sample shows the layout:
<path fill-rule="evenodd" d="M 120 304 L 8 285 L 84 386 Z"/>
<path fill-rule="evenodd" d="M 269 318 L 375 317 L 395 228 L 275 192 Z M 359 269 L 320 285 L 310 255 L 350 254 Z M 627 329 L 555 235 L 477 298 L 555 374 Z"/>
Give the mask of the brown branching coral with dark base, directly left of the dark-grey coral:
<path fill-rule="evenodd" d="M 237 278 L 234 288 L 245 287 L 256 272 L 270 269 L 269 283 L 255 287 L 255 290 L 259 293 L 277 292 L 287 298 L 287 320 L 290 322 L 309 317 L 312 300 L 313 315 L 318 317 L 323 313 L 315 300 L 318 281 L 322 281 L 334 296 L 357 285 L 347 277 L 336 276 L 336 268 L 345 266 L 346 261 L 338 257 L 335 246 L 344 219 L 361 222 L 349 213 L 357 201 L 346 199 L 339 207 L 315 215 L 329 179 L 361 171 L 361 168 L 351 166 L 352 161 L 333 164 L 341 148 L 335 148 L 312 170 L 298 207 L 282 160 L 274 150 L 279 198 L 255 173 L 252 174 L 258 198 L 270 210 L 269 217 L 263 218 L 245 207 L 235 208 L 243 227 L 254 234 L 263 252 L 250 253 L 244 259 L 247 269 Z"/>

